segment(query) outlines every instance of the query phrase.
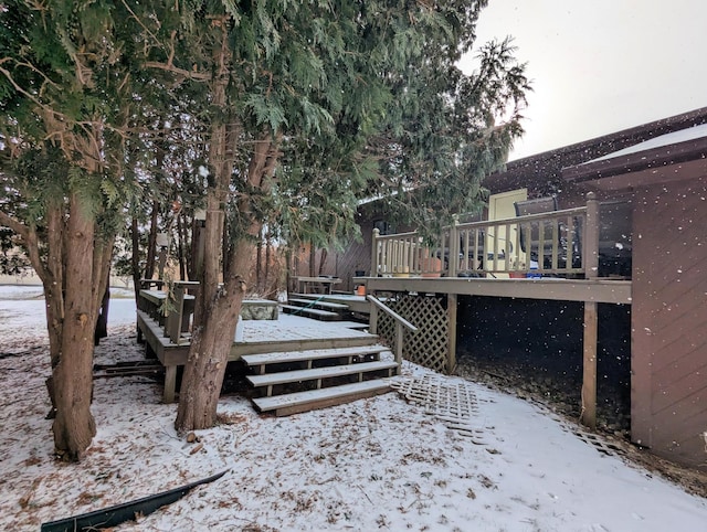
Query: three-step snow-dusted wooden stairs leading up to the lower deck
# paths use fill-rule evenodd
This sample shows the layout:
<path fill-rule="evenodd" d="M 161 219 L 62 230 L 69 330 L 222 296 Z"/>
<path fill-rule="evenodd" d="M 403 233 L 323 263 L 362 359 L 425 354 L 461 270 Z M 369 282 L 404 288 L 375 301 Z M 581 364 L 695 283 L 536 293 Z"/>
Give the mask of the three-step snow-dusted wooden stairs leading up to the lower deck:
<path fill-rule="evenodd" d="M 398 371 L 380 344 L 247 354 L 241 359 L 258 412 L 277 416 L 324 408 L 390 391 Z"/>

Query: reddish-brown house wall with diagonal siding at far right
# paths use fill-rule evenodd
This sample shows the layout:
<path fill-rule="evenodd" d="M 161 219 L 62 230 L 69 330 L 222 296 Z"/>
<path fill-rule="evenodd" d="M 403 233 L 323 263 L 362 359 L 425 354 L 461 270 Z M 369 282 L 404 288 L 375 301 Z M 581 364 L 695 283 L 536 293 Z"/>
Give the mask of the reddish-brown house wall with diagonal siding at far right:
<path fill-rule="evenodd" d="M 632 439 L 707 470 L 707 178 L 634 194 Z"/>

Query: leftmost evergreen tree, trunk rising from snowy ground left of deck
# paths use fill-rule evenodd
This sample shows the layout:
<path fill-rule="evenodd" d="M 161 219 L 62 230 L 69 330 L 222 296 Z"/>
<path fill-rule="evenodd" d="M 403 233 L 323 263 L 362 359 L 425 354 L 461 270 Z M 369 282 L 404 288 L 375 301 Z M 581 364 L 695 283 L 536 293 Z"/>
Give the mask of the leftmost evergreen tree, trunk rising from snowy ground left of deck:
<path fill-rule="evenodd" d="M 67 460 L 95 434 L 94 329 L 130 193 L 123 148 L 133 94 L 118 11 L 108 1 L 0 7 L 0 225 L 19 235 L 44 285 L 52 428 Z"/>

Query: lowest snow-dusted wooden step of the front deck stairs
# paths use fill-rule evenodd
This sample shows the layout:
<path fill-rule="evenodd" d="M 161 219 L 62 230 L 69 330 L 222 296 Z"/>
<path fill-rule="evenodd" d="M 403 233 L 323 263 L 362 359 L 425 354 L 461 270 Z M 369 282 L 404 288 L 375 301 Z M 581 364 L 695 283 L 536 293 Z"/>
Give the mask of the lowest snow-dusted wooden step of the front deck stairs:
<path fill-rule="evenodd" d="M 299 412 L 325 408 L 363 397 L 371 397 L 390 392 L 390 390 L 391 387 L 387 381 L 377 379 L 321 390 L 276 395 L 274 397 L 254 398 L 253 404 L 255 404 L 258 412 L 274 412 L 276 416 L 288 416 Z"/>

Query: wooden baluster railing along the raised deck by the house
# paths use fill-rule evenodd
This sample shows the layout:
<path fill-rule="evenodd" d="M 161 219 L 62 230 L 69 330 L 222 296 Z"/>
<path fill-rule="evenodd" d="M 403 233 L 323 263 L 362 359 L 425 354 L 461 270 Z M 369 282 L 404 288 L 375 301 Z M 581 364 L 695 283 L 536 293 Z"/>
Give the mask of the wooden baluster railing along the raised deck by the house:
<path fill-rule="evenodd" d="M 598 275 L 599 202 L 585 206 L 445 227 L 433 246 L 418 232 L 373 230 L 371 274 L 422 277 Z"/>

